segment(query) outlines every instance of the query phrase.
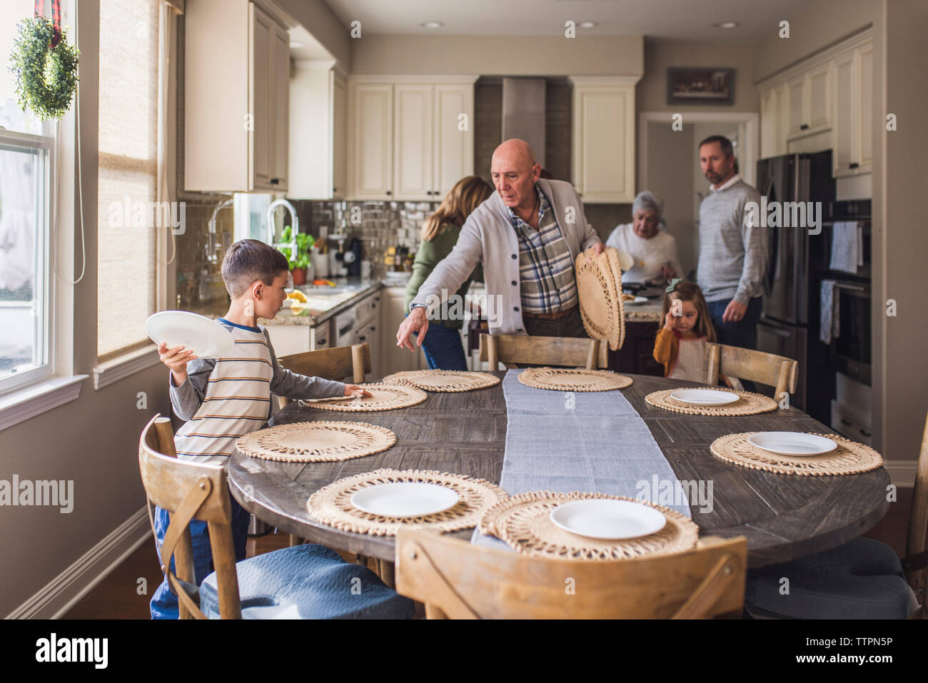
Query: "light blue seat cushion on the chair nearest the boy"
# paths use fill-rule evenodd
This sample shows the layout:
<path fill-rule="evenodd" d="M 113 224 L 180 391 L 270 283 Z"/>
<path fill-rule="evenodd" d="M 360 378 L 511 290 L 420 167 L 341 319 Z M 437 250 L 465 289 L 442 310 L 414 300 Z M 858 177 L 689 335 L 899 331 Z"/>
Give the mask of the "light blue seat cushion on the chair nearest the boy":
<path fill-rule="evenodd" d="M 324 546 L 303 544 L 240 561 L 238 594 L 242 618 L 411 619 L 403 598 L 360 564 L 342 560 Z M 219 618 L 216 574 L 200 586 L 200 610 Z"/>

